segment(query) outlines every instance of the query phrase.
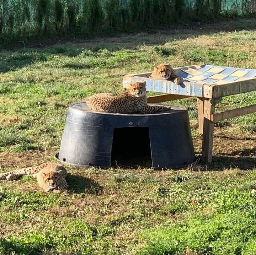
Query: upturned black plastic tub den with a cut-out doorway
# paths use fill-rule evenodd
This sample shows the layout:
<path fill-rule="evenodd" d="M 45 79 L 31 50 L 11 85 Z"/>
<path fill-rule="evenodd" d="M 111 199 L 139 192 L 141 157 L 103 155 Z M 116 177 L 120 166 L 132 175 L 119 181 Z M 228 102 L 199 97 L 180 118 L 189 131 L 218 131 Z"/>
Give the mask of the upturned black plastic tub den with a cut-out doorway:
<path fill-rule="evenodd" d="M 181 168 L 194 161 L 188 112 L 173 106 L 154 114 L 92 112 L 86 103 L 69 107 L 56 158 L 78 167 L 110 168 L 123 157 L 150 157 L 154 169 Z M 143 167 L 143 166 L 142 166 Z"/>

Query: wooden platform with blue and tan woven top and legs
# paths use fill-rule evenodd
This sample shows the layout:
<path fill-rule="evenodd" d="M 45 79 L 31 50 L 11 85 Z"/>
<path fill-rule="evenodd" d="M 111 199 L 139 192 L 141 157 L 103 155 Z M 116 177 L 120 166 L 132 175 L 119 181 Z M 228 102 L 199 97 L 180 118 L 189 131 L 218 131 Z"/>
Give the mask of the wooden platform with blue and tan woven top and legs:
<path fill-rule="evenodd" d="M 202 161 L 212 160 L 213 123 L 223 119 L 256 112 L 256 105 L 215 114 L 215 104 L 222 97 L 256 90 L 256 70 L 226 66 L 193 65 L 175 68 L 183 78 L 181 85 L 171 81 L 149 78 L 151 72 L 123 77 L 123 87 L 135 81 L 146 81 L 146 89 L 165 93 L 148 97 L 148 102 L 159 103 L 197 97 L 199 132 L 203 134 Z"/>

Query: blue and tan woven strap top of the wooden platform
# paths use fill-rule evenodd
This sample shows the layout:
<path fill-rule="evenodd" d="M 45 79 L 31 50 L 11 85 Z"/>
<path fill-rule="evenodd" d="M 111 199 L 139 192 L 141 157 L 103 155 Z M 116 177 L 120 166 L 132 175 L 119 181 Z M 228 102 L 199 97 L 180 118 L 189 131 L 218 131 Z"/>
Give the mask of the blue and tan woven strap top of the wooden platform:
<path fill-rule="evenodd" d="M 147 91 L 218 98 L 256 90 L 256 70 L 226 66 L 193 65 L 174 69 L 183 78 L 181 85 L 149 78 L 151 72 L 123 77 L 123 87 L 146 81 Z"/>

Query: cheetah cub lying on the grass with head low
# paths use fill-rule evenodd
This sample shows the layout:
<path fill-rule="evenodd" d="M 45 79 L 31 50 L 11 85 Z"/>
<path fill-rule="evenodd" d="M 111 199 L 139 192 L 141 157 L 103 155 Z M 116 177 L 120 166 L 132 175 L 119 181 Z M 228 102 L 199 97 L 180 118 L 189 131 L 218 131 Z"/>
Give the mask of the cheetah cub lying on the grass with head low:
<path fill-rule="evenodd" d="M 66 169 L 57 163 L 45 163 L 36 167 L 27 167 L 2 173 L 0 174 L 0 180 L 17 180 L 24 175 L 32 175 L 37 178 L 39 186 L 44 191 L 68 189 L 68 183 L 65 180 L 67 176 Z"/>

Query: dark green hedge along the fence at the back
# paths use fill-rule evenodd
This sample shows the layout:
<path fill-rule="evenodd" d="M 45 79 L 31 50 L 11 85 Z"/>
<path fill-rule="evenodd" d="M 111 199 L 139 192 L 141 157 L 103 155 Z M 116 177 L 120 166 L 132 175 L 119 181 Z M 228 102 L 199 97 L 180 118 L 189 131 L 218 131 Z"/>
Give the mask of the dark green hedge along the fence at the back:
<path fill-rule="evenodd" d="M 224 0 L 223 0 L 224 1 Z M 221 0 L 0 0 L 0 37 L 129 32 L 219 15 Z"/>

